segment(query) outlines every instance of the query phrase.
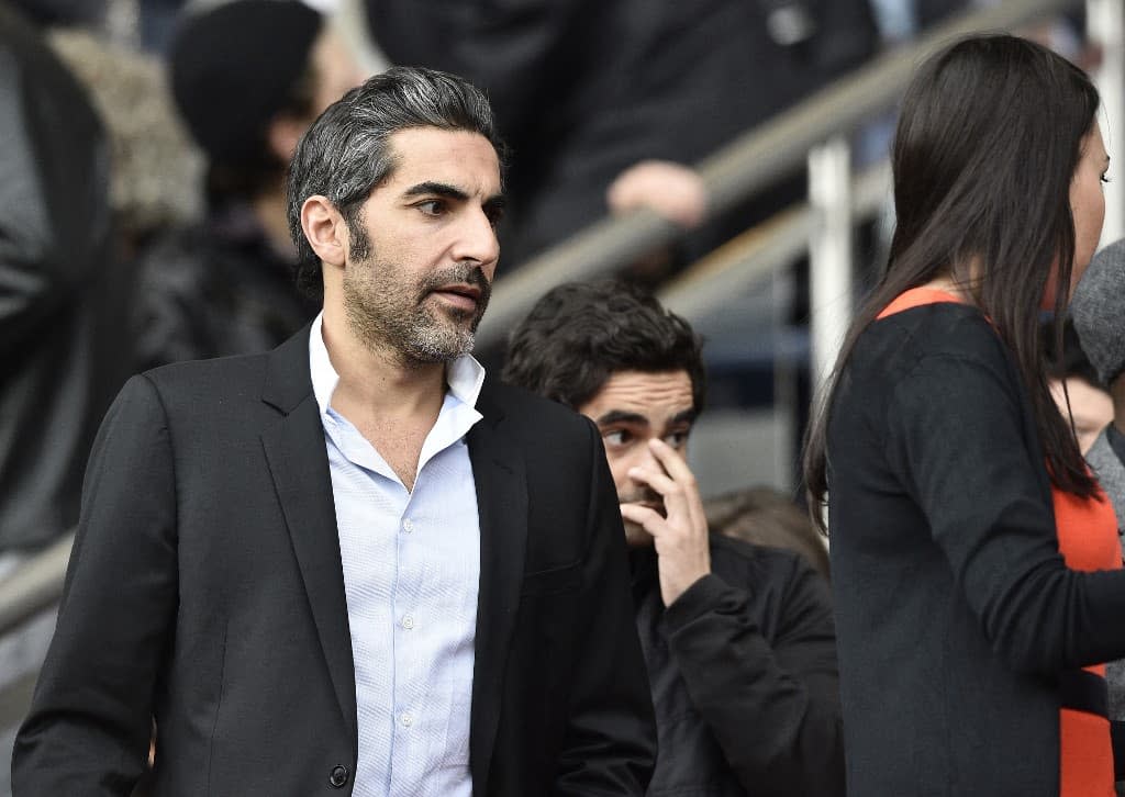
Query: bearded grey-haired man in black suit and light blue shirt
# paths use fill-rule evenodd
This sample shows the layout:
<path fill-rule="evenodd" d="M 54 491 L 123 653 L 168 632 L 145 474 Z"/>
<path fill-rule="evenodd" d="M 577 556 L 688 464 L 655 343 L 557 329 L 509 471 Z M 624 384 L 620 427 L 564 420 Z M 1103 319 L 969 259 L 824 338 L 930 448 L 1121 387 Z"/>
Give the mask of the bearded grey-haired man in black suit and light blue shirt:
<path fill-rule="evenodd" d="M 312 327 L 135 377 L 99 434 L 17 795 L 640 795 L 655 757 L 596 431 L 470 356 L 503 145 L 396 69 L 302 139 Z"/>

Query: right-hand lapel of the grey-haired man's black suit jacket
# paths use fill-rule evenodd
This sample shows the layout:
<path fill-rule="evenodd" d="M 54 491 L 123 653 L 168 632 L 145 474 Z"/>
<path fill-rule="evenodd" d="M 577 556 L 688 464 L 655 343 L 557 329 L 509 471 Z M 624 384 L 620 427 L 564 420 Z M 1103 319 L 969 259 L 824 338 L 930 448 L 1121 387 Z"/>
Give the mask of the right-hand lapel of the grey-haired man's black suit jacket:
<path fill-rule="evenodd" d="M 480 591 L 469 731 L 469 760 L 476 794 L 484 794 L 488 785 L 500 724 L 504 667 L 523 585 L 528 535 L 523 458 L 501 434 L 503 410 L 494 399 L 486 382 L 477 405 L 484 418 L 468 435 L 480 518 Z"/>

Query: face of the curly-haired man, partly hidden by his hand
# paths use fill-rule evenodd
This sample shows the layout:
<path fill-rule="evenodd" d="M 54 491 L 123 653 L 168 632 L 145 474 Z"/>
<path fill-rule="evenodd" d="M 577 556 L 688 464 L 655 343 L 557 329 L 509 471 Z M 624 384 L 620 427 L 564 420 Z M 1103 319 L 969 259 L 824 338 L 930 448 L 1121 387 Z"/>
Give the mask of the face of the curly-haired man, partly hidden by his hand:
<path fill-rule="evenodd" d="M 578 407 L 578 411 L 597 424 L 602 433 L 618 500 L 644 504 L 664 514 L 660 496 L 631 479 L 629 469 L 646 463 L 660 468 L 648 447 L 648 441 L 654 437 L 663 440 L 682 456 L 687 455 L 687 435 L 695 423 L 692 379 L 687 371 L 619 371 L 593 399 Z M 626 540 L 630 545 L 652 542 L 645 529 L 629 522 L 626 522 Z"/>

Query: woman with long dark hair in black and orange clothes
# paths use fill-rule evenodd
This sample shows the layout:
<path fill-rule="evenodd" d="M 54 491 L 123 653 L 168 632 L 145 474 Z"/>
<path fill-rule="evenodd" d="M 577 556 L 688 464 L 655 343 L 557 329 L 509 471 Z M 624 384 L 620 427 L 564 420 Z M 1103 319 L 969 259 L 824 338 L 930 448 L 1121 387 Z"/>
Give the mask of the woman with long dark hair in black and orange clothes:
<path fill-rule="evenodd" d="M 850 797 L 1113 795 L 1099 664 L 1125 656 L 1125 571 L 1038 334 L 1100 234 L 1097 110 L 1011 36 L 947 47 L 903 99 L 890 261 L 804 463 Z"/>

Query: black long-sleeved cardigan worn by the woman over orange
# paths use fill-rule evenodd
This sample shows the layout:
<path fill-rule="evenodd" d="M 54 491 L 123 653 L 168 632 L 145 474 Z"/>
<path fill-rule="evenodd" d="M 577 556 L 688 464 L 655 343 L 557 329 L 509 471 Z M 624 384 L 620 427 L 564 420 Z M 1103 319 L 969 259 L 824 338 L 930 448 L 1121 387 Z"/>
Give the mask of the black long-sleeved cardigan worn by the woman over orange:
<path fill-rule="evenodd" d="M 828 425 L 848 795 L 1058 795 L 1058 679 L 1125 654 L 1069 570 L 1029 398 L 973 307 L 875 321 Z"/>

